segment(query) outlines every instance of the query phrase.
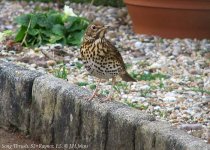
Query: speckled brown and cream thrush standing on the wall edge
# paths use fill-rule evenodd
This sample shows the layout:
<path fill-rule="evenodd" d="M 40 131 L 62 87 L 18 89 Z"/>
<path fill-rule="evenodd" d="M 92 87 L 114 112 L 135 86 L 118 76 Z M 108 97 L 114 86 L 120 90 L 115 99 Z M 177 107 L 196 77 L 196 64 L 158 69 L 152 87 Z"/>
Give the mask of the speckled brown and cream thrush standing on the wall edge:
<path fill-rule="evenodd" d="M 126 82 L 136 82 L 126 71 L 125 63 L 117 48 L 105 38 L 108 26 L 99 21 L 91 23 L 84 34 L 80 47 L 80 55 L 85 69 L 90 75 L 99 78 L 92 96 L 92 100 L 99 91 L 102 79 L 112 79 L 112 87 L 116 84 L 116 77 L 120 76 Z M 106 100 L 111 100 L 113 90 Z"/>

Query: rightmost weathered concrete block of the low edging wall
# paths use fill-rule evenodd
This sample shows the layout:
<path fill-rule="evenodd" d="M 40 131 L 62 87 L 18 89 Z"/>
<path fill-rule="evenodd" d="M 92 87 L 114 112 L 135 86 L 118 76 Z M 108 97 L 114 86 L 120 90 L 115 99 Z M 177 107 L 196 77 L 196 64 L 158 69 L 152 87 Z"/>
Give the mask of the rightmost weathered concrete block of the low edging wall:
<path fill-rule="evenodd" d="M 136 130 L 136 150 L 208 150 L 207 144 L 163 121 L 145 122 Z"/>

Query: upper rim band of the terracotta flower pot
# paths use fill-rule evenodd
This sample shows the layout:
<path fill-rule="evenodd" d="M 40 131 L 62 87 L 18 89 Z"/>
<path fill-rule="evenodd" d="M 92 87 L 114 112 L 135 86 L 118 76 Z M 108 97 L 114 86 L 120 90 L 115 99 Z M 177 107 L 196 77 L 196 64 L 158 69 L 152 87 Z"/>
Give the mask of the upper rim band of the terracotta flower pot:
<path fill-rule="evenodd" d="M 210 10 L 210 0 L 124 0 L 127 5 L 170 8 Z"/>

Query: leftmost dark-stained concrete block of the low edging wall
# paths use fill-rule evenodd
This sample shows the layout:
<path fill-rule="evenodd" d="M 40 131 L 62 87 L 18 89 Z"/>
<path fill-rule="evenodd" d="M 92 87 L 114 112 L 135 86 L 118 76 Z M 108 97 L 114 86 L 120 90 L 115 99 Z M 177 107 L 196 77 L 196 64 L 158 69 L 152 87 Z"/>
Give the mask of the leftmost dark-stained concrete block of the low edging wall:
<path fill-rule="evenodd" d="M 0 126 L 28 132 L 32 85 L 41 75 L 11 63 L 0 64 Z"/>

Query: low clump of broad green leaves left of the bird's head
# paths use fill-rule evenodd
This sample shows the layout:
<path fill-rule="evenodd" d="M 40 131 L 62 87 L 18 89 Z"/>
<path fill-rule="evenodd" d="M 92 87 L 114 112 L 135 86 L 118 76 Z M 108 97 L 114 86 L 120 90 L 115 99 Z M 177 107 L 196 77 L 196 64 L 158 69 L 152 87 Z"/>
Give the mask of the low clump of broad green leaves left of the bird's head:
<path fill-rule="evenodd" d="M 20 25 L 15 40 L 25 46 L 46 43 L 79 45 L 89 24 L 85 18 L 58 11 L 24 14 L 15 21 Z"/>

